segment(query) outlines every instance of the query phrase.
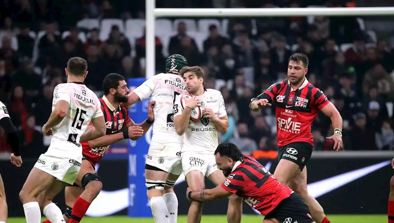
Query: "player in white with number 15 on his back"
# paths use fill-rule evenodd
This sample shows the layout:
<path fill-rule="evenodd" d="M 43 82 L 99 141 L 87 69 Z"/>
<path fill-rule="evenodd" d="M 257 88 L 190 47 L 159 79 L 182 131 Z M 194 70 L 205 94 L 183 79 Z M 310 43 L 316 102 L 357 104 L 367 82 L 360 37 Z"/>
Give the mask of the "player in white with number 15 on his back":
<path fill-rule="evenodd" d="M 50 146 L 35 163 L 19 193 L 27 223 L 40 223 L 41 210 L 52 223 L 65 222 L 52 199 L 66 183 L 74 184 L 82 163 L 80 141 L 105 134 L 100 101 L 83 83 L 87 62 L 73 57 L 67 62 L 65 72 L 67 83 L 55 87 L 52 113 L 43 126 L 43 134 L 52 135 Z M 94 128 L 86 131 L 90 122 Z"/>

